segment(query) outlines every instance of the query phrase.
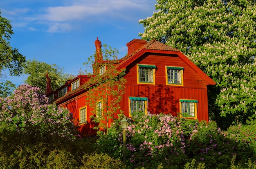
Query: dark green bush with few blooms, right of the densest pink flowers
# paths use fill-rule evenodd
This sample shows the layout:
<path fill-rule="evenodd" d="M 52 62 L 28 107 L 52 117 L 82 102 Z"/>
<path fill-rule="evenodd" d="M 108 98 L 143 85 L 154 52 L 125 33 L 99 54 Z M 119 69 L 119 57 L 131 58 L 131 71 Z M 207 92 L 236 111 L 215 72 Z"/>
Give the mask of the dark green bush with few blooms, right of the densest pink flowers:
<path fill-rule="evenodd" d="M 237 151 L 237 143 L 225 137 L 216 122 L 200 122 L 187 140 L 186 154 L 211 168 L 227 169 Z"/>

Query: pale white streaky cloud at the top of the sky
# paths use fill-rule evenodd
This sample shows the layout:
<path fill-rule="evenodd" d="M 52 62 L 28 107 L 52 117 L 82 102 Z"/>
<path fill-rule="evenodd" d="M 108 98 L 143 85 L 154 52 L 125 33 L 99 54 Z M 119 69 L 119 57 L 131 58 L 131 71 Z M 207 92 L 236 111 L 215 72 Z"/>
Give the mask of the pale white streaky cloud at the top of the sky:
<path fill-rule="evenodd" d="M 41 19 L 64 22 L 74 20 L 85 20 L 91 16 L 102 16 L 115 18 L 128 16 L 127 11 L 143 10 L 145 4 L 132 0 L 86 0 L 74 2 L 70 6 L 49 7 Z M 113 13 L 117 15 L 113 15 Z M 131 14 L 130 14 L 131 15 Z"/>

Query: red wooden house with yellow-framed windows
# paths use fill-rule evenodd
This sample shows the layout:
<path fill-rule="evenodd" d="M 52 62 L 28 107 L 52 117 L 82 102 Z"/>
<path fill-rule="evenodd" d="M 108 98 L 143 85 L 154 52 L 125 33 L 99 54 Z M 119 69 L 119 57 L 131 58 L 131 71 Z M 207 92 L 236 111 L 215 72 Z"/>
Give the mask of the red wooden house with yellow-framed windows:
<path fill-rule="evenodd" d="M 95 45 L 99 53 L 101 42 L 97 39 Z M 126 88 L 120 107 L 127 117 L 141 109 L 145 114 L 178 116 L 187 113 L 189 118 L 208 121 L 207 86 L 216 84 L 209 76 L 178 49 L 156 40 L 134 39 L 126 45 L 128 55 L 117 60 L 115 67 L 126 69 Z M 100 58 L 95 62 L 104 61 Z M 99 72 L 104 73 L 104 69 L 100 67 Z M 88 91 L 84 84 L 88 80 L 89 76 L 77 76 L 57 91 L 48 90 L 46 94 L 51 101 L 74 114 L 84 135 L 93 135 L 97 124 L 90 119 L 92 107 L 85 102 Z M 95 101 L 102 104 L 100 100 Z"/>

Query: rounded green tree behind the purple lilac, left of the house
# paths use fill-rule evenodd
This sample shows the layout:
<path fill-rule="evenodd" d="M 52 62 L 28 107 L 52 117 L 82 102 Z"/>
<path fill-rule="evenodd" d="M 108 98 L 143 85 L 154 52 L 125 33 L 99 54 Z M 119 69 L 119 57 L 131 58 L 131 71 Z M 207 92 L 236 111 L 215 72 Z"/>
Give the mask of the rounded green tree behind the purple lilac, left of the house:
<path fill-rule="evenodd" d="M 45 92 L 47 79 L 45 73 L 48 73 L 51 79 L 52 90 L 56 90 L 65 84 L 68 74 L 63 72 L 63 68 L 58 67 L 56 64 L 47 64 L 38 60 L 27 60 L 24 66 L 24 74 L 28 77 L 25 81 L 26 84 L 39 87 L 40 91 Z"/>

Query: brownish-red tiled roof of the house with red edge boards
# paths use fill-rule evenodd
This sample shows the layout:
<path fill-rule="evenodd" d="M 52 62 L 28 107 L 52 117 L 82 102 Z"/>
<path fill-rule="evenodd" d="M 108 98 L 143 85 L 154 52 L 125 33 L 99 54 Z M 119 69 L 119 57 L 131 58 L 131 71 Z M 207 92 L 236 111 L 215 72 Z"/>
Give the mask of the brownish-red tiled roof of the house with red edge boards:
<path fill-rule="evenodd" d="M 157 40 L 151 40 L 147 42 L 144 46 L 140 47 L 136 51 L 132 52 L 130 55 L 125 56 L 119 60 L 117 60 L 117 70 L 121 70 L 126 68 L 130 63 L 135 61 L 137 58 L 139 58 L 144 53 L 167 53 L 167 54 L 176 54 L 179 56 L 184 62 L 186 62 L 192 69 L 194 69 L 198 75 L 200 75 L 207 83 L 207 85 L 216 85 L 216 82 L 214 82 L 209 76 L 207 76 L 206 73 L 204 73 L 199 67 L 197 67 L 193 62 L 191 62 L 179 49 L 175 49 L 173 47 L 170 47 L 164 43 L 158 42 Z M 91 82 L 90 82 L 91 83 Z M 60 102 L 61 100 L 71 96 L 76 95 L 80 93 L 86 86 L 88 86 L 88 82 L 85 82 L 85 84 L 81 85 L 74 91 L 70 91 L 66 93 L 61 98 L 58 98 L 55 100 L 55 102 Z"/>

